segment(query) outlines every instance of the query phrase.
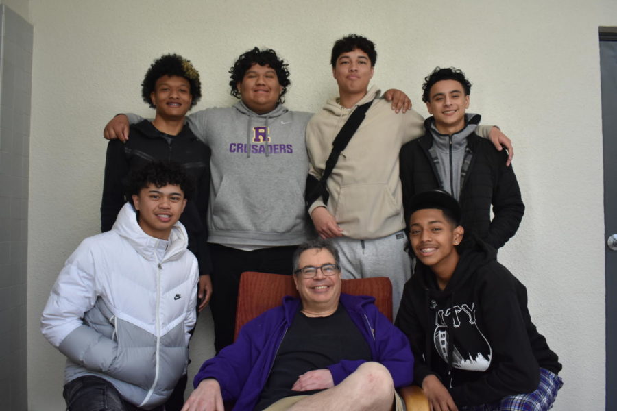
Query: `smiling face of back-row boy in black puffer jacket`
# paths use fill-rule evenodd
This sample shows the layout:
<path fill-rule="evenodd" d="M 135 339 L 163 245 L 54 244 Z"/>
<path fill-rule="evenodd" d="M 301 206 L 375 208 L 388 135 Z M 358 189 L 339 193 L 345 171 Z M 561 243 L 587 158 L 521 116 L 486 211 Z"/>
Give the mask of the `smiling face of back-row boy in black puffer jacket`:
<path fill-rule="evenodd" d="M 465 110 L 469 95 L 456 80 L 441 80 L 431 87 L 426 108 L 435 117 L 435 127 L 441 134 L 453 134 L 465 127 Z"/>

